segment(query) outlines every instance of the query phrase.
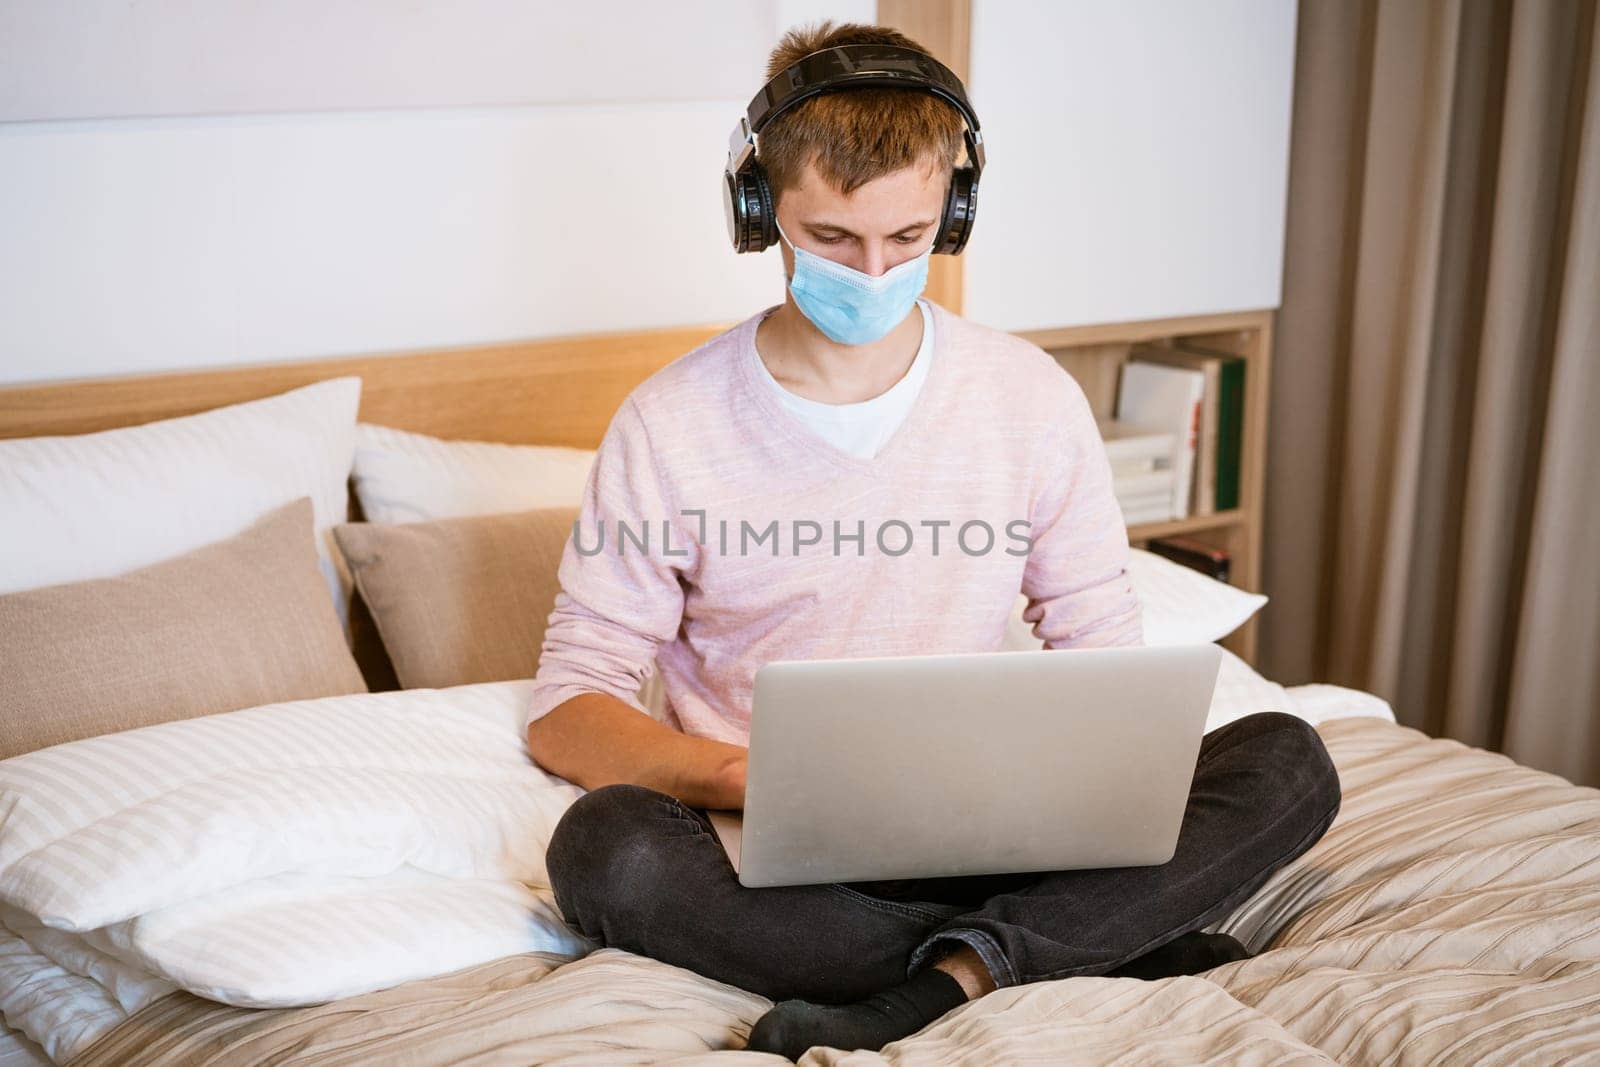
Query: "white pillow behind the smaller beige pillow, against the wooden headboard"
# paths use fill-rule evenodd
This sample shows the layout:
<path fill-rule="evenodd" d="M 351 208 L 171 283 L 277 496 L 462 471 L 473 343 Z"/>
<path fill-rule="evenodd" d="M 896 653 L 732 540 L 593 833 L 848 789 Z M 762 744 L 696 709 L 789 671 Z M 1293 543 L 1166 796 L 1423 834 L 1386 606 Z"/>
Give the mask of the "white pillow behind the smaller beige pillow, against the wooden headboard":
<path fill-rule="evenodd" d="M 446 442 L 387 426 L 355 427 L 355 496 L 371 523 L 576 507 L 587 448 Z"/>

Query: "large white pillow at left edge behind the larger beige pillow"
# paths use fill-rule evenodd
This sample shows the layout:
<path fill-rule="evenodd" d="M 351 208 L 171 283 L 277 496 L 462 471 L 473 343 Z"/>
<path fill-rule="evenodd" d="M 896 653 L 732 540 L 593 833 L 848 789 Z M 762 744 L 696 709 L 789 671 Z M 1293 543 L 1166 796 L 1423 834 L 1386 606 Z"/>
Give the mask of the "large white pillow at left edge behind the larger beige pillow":
<path fill-rule="evenodd" d="M 123 574 L 309 496 L 339 619 L 360 378 L 98 434 L 0 442 L 0 593 Z"/>

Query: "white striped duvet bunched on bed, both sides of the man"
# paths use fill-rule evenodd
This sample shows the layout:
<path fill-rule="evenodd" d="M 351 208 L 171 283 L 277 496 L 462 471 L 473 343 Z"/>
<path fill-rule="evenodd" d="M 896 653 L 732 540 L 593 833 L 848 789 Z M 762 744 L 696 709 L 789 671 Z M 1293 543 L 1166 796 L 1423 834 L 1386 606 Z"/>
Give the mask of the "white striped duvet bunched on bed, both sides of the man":
<path fill-rule="evenodd" d="M 544 849 L 579 790 L 528 758 L 530 681 L 299 701 L 0 761 L 0 1013 L 66 1062 L 174 989 L 314 1005 L 590 945 Z M 1210 728 L 1392 718 L 1224 657 Z"/>

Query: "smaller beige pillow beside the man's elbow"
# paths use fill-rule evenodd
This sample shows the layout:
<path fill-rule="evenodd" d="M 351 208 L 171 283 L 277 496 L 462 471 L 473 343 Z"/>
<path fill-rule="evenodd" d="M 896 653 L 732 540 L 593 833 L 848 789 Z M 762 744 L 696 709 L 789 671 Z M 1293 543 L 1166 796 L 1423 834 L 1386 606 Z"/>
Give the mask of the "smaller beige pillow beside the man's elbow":
<path fill-rule="evenodd" d="M 406 689 L 531 678 L 576 507 L 333 536 Z"/>

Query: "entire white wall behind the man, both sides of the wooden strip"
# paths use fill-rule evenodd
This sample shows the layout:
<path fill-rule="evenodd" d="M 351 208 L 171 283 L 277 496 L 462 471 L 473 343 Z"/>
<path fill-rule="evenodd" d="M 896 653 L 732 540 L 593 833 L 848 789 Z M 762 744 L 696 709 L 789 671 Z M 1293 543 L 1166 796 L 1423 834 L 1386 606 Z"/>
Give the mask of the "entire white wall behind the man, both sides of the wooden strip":
<path fill-rule="evenodd" d="M 875 5 L 610 10 L 0 0 L 0 382 L 782 299 L 776 253 L 728 250 L 728 130 L 782 27 Z M 966 314 L 1275 306 L 1293 29 L 1293 0 L 973 0 Z"/>

